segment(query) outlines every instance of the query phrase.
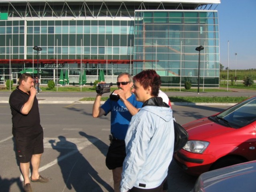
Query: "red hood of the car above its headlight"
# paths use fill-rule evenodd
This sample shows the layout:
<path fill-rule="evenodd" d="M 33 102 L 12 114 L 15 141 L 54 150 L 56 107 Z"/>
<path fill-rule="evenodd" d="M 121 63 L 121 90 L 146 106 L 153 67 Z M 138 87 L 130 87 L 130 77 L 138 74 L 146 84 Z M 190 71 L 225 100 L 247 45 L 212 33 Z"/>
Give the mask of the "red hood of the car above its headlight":
<path fill-rule="evenodd" d="M 226 127 L 209 120 L 207 117 L 182 125 L 189 135 L 189 140 L 207 140 L 219 134 L 231 132 L 234 128 Z"/>

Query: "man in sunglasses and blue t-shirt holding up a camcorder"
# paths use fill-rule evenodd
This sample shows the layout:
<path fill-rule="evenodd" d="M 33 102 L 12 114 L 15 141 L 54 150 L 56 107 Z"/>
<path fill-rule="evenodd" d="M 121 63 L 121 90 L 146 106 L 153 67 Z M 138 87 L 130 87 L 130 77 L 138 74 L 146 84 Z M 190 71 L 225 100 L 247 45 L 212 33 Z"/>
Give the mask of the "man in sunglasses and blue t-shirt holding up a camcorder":
<path fill-rule="evenodd" d="M 99 84 L 105 84 L 100 82 Z M 97 96 L 93 104 L 93 117 L 97 118 L 107 115 L 111 112 L 111 144 L 107 152 L 106 166 L 112 170 L 114 180 L 115 192 L 120 191 L 120 181 L 123 167 L 123 160 L 125 159 L 125 135 L 131 121 L 131 117 L 139 111 L 142 102 L 138 102 L 135 95 L 132 94 L 133 77 L 129 73 L 122 73 L 117 77 L 118 90 L 112 94 L 118 95 L 119 100 L 109 98 L 101 106 L 101 96 L 105 92 L 110 92 L 109 84 L 99 86 L 102 90 L 97 90 Z M 105 88 L 105 89 L 104 89 Z M 117 97 L 115 97 L 117 98 Z"/>

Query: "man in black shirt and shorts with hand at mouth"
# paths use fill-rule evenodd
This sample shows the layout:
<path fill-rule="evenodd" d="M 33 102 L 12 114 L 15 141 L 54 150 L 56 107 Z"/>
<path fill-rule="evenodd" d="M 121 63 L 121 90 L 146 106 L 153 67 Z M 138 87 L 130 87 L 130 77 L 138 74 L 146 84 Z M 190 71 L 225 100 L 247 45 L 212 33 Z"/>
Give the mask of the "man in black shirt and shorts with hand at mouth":
<path fill-rule="evenodd" d="M 19 86 L 10 95 L 9 104 L 12 111 L 12 134 L 15 138 L 16 154 L 24 178 L 24 191 L 31 192 L 30 162 L 31 181 L 48 182 L 48 178 L 40 176 L 38 172 L 44 152 L 43 129 L 40 125 L 38 100 L 32 75 L 24 73 L 20 76 Z"/>

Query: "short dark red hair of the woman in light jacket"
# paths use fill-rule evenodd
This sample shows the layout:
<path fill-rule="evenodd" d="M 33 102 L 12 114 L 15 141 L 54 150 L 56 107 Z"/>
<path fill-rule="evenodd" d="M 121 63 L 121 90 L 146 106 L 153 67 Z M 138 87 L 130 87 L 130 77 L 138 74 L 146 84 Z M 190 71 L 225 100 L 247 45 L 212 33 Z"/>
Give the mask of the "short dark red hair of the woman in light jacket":
<path fill-rule="evenodd" d="M 144 70 L 133 77 L 133 81 L 137 81 L 144 89 L 151 86 L 151 96 L 157 97 L 161 86 L 161 78 L 153 69 Z"/>

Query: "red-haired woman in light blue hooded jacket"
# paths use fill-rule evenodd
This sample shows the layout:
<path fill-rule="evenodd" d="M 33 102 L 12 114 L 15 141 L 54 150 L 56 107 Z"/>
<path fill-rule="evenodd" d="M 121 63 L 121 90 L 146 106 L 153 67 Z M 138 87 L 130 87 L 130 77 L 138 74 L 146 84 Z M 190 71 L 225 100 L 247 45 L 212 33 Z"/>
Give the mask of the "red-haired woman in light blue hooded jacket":
<path fill-rule="evenodd" d="M 133 81 L 132 92 L 143 106 L 132 117 L 125 137 L 120 191 L 161 192 L 173 156 L 172 110 L 157 97 L 161 79 L 155 70 L 144 70 Z"/>

